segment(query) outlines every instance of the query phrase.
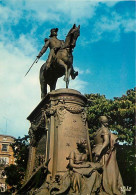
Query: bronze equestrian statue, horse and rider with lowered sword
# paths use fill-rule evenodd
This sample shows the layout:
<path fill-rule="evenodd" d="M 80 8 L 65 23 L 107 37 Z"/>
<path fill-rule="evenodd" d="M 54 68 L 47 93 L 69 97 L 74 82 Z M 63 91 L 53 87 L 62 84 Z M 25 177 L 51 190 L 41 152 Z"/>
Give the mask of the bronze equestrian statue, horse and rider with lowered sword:
<path fill-rule="evenodd" d="M 50 38 L 45 38 L 45 44 L 34 61 L 34 63 L 37 63 L 39 58 L 46 52 L 46 50 L 48 48 L 50 49 L 48 59 L 40 68 L 42 99 L 47 94 L 47 84 L 50 86 L 50 91 L 55 90 L 57 79 L 65 75 L 64 81 L 66 82 L 66 88 L 68 88 L 70 76 L 72 79 L 75 79 L 75 77 L 78 75 L 78 71 L 75 71 L 73 68 L 72 52 L 76 46 L 77 38 L 80 35 L 80 26 L 76 27 L 74 24 L 68 32 L 65 41 L 57 38 L 57 32 L 58 28 L 53 28 L 50 30 Z"/>

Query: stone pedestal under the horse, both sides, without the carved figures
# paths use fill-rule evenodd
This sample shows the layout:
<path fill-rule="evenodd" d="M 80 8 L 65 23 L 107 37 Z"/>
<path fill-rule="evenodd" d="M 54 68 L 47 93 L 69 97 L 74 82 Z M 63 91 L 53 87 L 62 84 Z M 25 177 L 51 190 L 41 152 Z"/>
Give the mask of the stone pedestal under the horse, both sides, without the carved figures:
<path fill-rule="evenodd" d="M 47 94 L 28 116 L 31 122 L 30 152 L 26 186 L 43 163 L 48 166 L 46 180 L 67 171 L 69 154 L 80 139 L 87 140 L 90 151 L 85 105 L 87 99 L 73 89 L 59 89 Z M 91 157 L 91 154 L 90 154 Z M 31 182 L 30 182 L 31 183 Z"/>

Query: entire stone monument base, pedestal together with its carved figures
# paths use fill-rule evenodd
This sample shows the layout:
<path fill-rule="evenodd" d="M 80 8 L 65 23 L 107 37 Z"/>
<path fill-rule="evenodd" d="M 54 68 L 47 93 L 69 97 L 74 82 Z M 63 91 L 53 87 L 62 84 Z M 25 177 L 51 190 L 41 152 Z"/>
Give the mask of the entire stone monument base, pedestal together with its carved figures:
<path fill-rule="evenodd" d="M 108 130 L 107 117 L 101 116 L 92 161 L 86 103 L 85 96 L 76 90 L 54 90 L 28 116 L 29 160 L 18 194 L 122 194 L 115 150 L 117 136 Z M 105 139 L 109 141 L 101 151 Z"/>

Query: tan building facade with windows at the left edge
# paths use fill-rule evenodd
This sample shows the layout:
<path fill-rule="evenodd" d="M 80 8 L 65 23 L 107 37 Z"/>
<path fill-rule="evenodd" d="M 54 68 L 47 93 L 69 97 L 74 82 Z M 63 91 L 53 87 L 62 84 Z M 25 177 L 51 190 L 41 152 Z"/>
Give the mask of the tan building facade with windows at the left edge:
<path fill-rule="evenodd" d="M 0 135 L 0 192 L 5 192 L 8 188 L 5 183 L 4 168 L 10 164 L 15 164 L 13 150 L 10 146 L 10 144 L 14 143 L 14 140 L 13 136 Z"/>

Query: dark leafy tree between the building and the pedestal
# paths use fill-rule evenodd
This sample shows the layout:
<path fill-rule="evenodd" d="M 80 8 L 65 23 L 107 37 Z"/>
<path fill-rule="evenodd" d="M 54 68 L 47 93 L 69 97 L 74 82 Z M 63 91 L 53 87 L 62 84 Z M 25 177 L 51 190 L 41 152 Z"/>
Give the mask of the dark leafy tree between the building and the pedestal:
<path fill-rule="evenodd" d="M 12 189 L 19 189 L 22 185 L 22 181 L 25 176 L 28 161 L 29 151 L 29 136 L 25 135 L 23 138 L 15 139 L 15 142 L 11 144 L 15 164 L 5 168 L 5 174 L 7 176 L 6 183 L 9 184 Z"/>

